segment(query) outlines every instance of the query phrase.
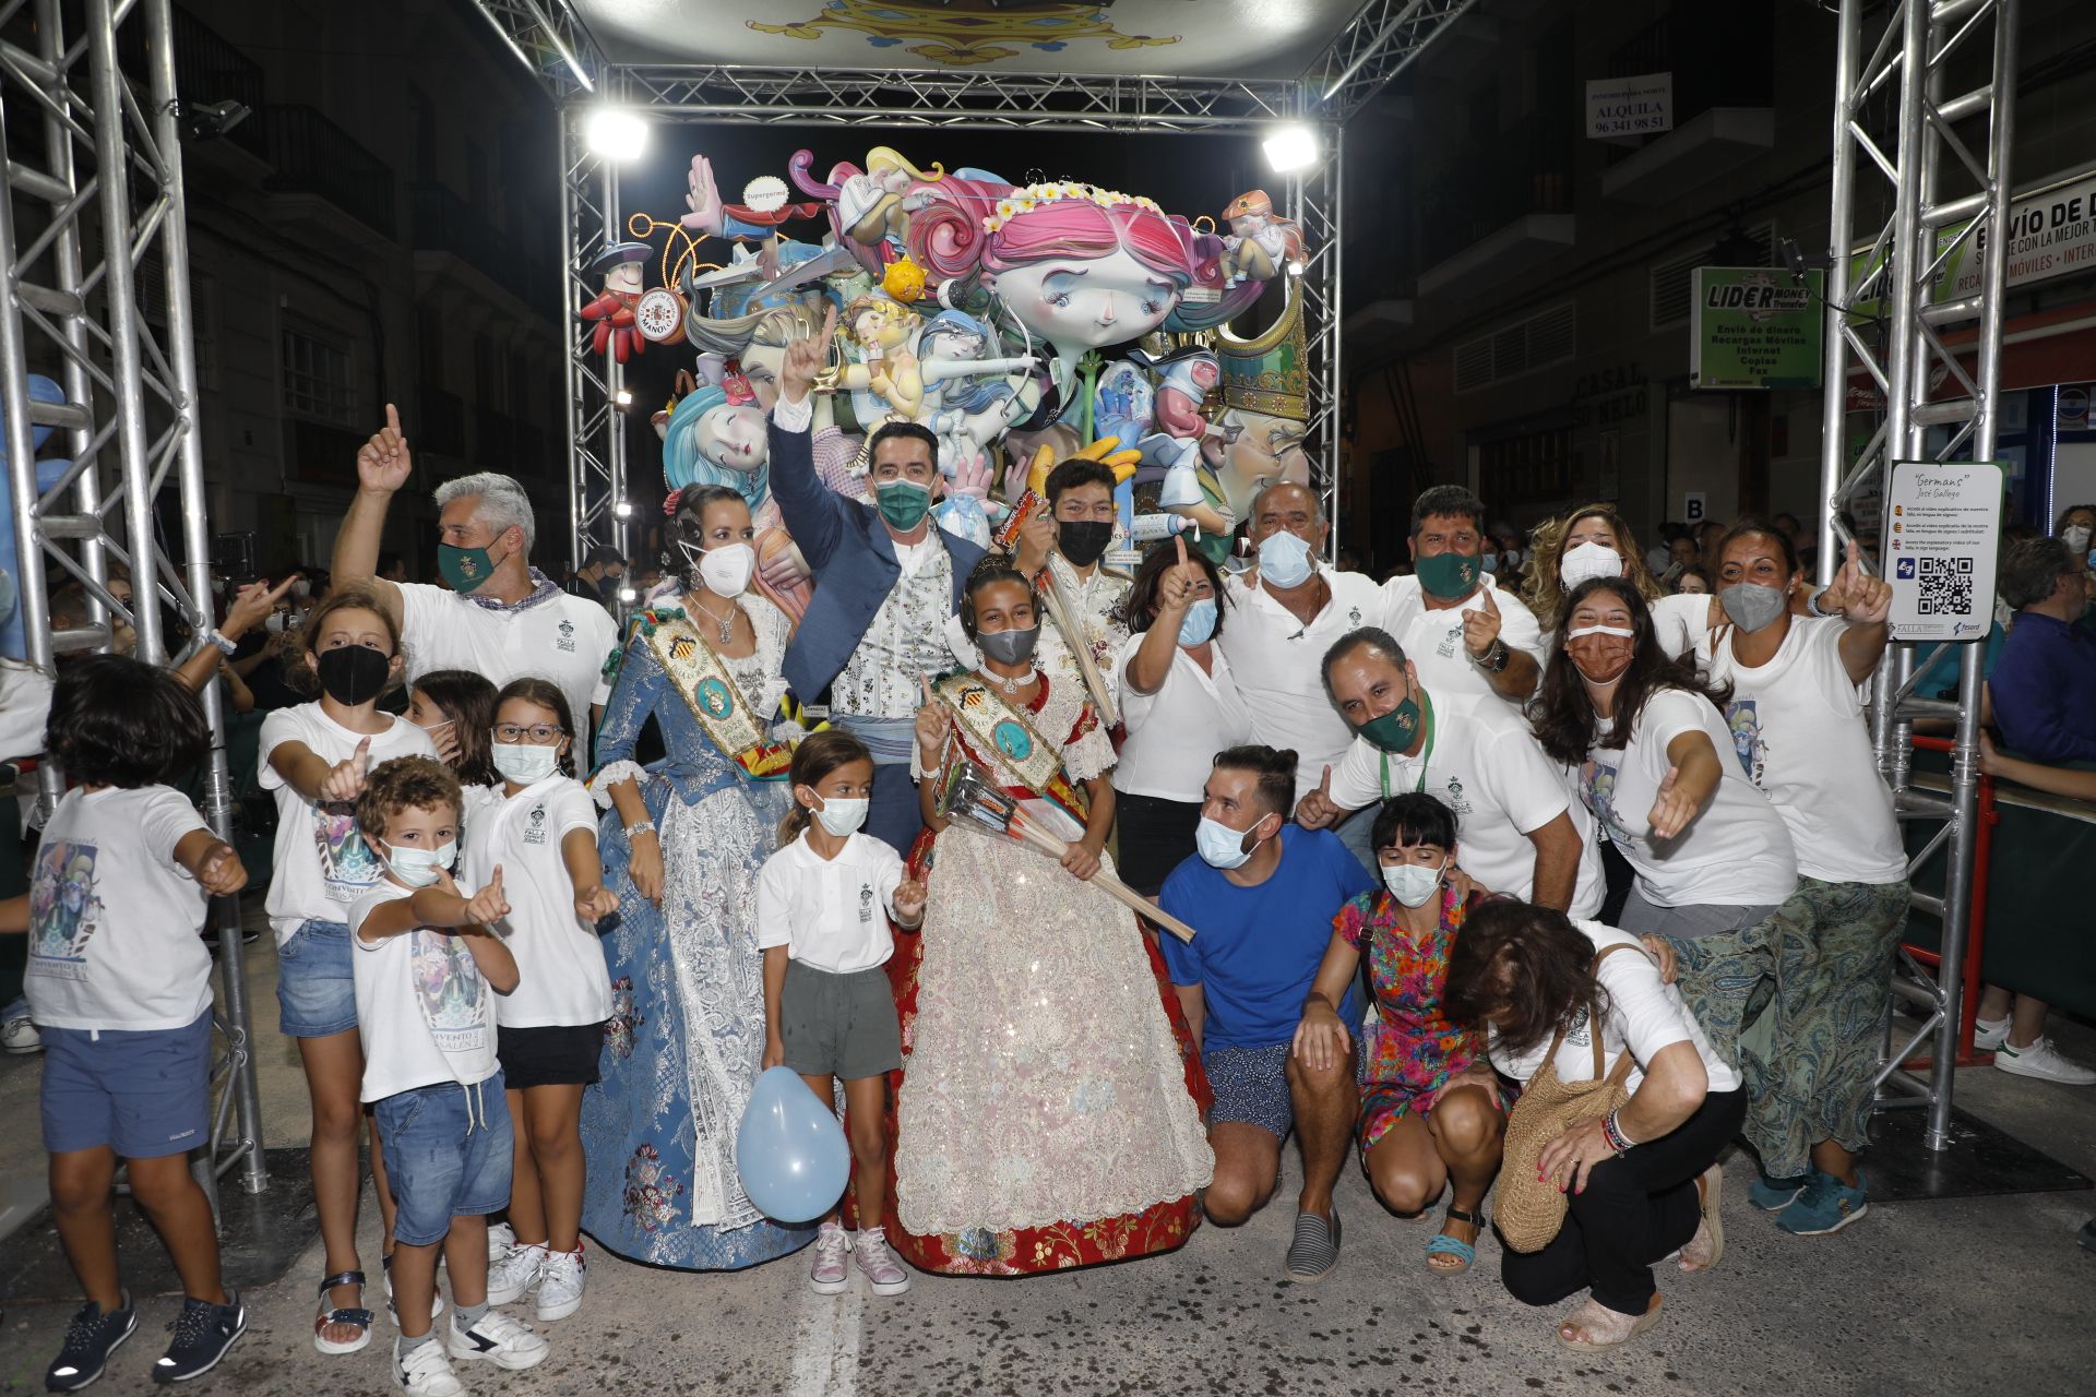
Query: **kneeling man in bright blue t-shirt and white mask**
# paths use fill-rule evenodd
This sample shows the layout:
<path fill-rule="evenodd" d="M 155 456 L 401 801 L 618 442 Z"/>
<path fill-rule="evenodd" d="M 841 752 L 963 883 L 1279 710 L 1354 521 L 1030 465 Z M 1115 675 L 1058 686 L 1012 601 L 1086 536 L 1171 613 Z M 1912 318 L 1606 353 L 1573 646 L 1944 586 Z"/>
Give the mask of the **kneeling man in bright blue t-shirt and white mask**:
<path fill-rule="evenodd" d="M 1287 1267 L 1295 1280 L 1320 1280 L 1339 1261 L 1331 1190 L 1360 1097 L 1352 1060 L 1312 1068 L 1291 1047 L 1331 922 L 1375 880 L 1329 829 L 1287 823 L 1293 800 L 1293 752 L 1249 746 L 1218 754 L 1201 794 L 1199 855 L 1172 871 L 1159 903 L 1201 932 L 1191 943 L 1165 938 L 1163 951 L 1216 1091 L 1207 1219 L 1235 1227 L 1266 1206 L 1281 1141 L 1295 1129 L 1304 1192 Z M 1339 1018 L 1358 1026 L 1360 1014 L 1348 991 Z"/>

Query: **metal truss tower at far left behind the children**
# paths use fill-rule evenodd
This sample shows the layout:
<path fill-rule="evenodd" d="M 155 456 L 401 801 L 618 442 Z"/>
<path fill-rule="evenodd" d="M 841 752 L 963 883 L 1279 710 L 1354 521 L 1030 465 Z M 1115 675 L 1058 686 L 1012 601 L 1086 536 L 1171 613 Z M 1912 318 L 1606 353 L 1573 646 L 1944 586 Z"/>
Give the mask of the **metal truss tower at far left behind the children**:
<path fill-rule="evenodd" d="M 10 23 L 23 10 L 34 23 Z M 75 15 L 80 38 L 67 34 Z M 168 658 L 161 605 L 187 618 L 199 643 L 212 626 L 168 0 L 36 0 L 34 6 L 17 0 L 0 6 L 0 25 L 10 36 L 0 40 L 0 140 L 8 153 L 8 197 L 0 201 L 0 256 L 6 260 L 0 411 L 6 415 L 27 658 L 50 670 L 61 653 L 107 649 L 115 616 L 136 628 L 138 658 L 159 664 Z M 13 42 L 15 36 L 34 48 Z M 119 69 L 119 50 L 143 54 L 143 82 Z M 157 281 L 140 276 L 149 264 L 159 268 Z M 166 300 L 140 302 L 149 285 L 159 285 Z M 57 377 L 65 402 L 34 404 L 31 373 Z M 63 454 L 71 463 L 42 490 L 31 438 L 38 425 L 63 431 Z M 157 532 L 157 507 L 170 496 L 180 517 L 178 545 Z M 109 595 L 111 561 L 130 568 L 132 607 Z M 86 586 L 88 624 L 50 630 L 52 580 Z M 205 815 L 231 842 L 224 712 L 216 687 L 205 691 L 203 708 L 212 723 Z M 38 777 L 38 804 L 48 815 L 65 777 L 50 762 Z M 212 1156 L 199 1160 L 199 1175 L 216 1198 L 218 1175 L 239 1169 L 243 1185 L 260 1192 L 268 1173 L 249 1056 L 239 903 L 218 899 L 214 911 L 224 1051 L 212 1072 Z"/>

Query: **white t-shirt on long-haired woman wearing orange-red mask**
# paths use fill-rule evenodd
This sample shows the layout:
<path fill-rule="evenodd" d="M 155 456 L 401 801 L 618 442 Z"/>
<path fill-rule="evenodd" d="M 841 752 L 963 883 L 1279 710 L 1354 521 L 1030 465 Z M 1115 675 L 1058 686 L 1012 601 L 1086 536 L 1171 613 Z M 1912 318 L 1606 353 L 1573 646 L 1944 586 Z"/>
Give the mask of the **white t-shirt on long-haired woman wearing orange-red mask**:
<path fill-rule="evenodd" d="M 1616 718 L 1620 720 L 1620 718 Z M 1612 723 L 1599 718 L 1606 733 Z M 1673 764 L 1666 746 L 1681 733 L 1702 733 L 1719 758 L 1717 792 L 1679 836 L 1652 838 L 1652 802 Z M 1798 888 L 1798 859 L 1775 806 L 1754 790 L 1731 758 L 1731 733 L 1710 700 L 1687 689 L 1660 689 L 1645 700 L 1622 748 L 1587 750 L 1578 771 L 1580 800 L 1608 827 L 1610 840 L 1637 869 L 1637 886 L 1660 907 L 1767 907 Z"/>

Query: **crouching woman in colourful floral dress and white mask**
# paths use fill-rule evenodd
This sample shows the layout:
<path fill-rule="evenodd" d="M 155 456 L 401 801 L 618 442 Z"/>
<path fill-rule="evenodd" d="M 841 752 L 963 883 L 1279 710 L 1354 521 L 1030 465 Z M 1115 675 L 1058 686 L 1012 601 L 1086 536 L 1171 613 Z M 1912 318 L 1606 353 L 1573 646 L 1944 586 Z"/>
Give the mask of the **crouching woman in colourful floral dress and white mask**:
<path fill-rule="evenodd" d="M 1434 796 L 1385 800 L 1373 842 L 1383 890 L 1362 892 L 1333 917 L 1295 1054 L 1318 1064 L 1352 1047 L 1335 1005 L 1367 955 L 1375 1020 L 1364 1028 L 1360 1156 L 1375 1196 L 1394 1213 L 1423 1213 L 1455 1183 L 1440 1236 L 1427 1242 L 1427 1267 L 1461 1271 L 1478 1257 L 1505 1131 L 1484 1033 L 1442 1014 L 1448 953 L 1482 892 L 1457 871 L 1455 815 Z"/>

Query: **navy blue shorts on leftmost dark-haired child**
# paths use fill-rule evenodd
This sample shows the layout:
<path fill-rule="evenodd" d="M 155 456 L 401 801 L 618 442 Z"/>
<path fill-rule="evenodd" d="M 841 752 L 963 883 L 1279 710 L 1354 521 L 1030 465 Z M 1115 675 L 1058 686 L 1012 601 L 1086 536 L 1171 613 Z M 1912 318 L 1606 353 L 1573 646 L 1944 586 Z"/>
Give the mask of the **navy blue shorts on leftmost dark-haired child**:
<path fill-rule="evenodd" d="M 155 1160 L 212 1139 L 212 1012 L 187 1028 L 44 1028 L 44 1150 Z"/>

